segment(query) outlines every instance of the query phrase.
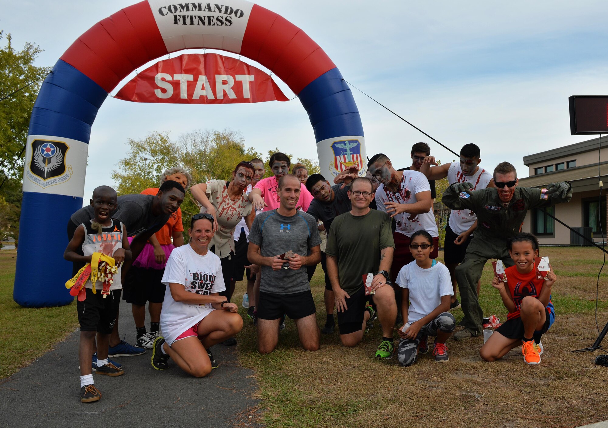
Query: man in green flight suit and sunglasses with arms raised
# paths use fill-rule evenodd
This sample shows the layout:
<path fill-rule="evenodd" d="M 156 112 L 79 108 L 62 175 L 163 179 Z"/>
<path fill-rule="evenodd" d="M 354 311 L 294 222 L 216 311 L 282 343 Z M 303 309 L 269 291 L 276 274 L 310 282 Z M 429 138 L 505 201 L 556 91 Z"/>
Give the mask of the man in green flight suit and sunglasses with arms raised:
<path fill-rule="evenodd" d="M 465 313 L 464 330 L 455 340 L 468 339 L 482 332 L 483 311 L 476 291 L 483 266 L 490 258 L 499 258 L 505 267 L 513 266 L 506 240 L 520 232 L 523 218 L 532 208 L 550 207 L 572 199 L 572 185 L 553 183 L 545 191 L 536 187 L 517 187 L 517 172 L 509 162 L 494 169 L 496 187 L 471 190 L 468 182 L 454 183 L 441 199 L 452 210 L 469 209 L 477 214 L 477 229 L 466 251 L 465 260 L 456 268 L 461 307 Z"/>

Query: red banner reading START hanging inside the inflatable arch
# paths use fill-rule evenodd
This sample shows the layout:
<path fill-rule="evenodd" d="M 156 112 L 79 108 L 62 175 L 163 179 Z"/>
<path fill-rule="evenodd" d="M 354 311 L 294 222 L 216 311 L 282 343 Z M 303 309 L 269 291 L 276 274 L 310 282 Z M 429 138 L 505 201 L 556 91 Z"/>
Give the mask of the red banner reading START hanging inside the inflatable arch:
<path fill-rule="evenodd" d="M 182 104 L 289 100 L 268 74 L 218 54 L 183 54 L 159 61 L 140 72 L 114 98 Z"/>

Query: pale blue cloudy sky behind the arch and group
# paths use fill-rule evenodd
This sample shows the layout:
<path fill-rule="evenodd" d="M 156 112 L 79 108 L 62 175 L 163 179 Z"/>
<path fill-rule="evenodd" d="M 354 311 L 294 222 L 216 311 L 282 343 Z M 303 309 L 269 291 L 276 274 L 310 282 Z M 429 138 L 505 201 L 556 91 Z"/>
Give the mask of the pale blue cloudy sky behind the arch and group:
<path fill-rule="evenodd" d="M 44 52 L 36 65 L 52 66 L 81 33 L 134 2 L 9 2 L 2 7 L 0 30 L 12 35 L 16 49 L 26 42 L 38 44 Z M 568 97 L 608 94 L 605 1 L 257 3 L 311 36 L 345 80 L 447 147 L 458 152 L 466 143 L 477 144 L 481 165 L 488 170 L 508 161 L 523 178 L 528 176 L 523 156 L 592 138 L 570 136 Z M 269 72 L 255 61 L 241 60 Z M 353 95 L 368 156 L 382 152 L 405 167 L 411 164 L 413 143 L 424 141 L 443 163 L 454 161 L 454 154 L 361 92 L 353 89 Z M 246 146 L 261 153 L 278 147 L 294 157 L 317 159 L 313 129 L 297 98 L 200 106 L 108 98 L 92 127 L 85 201 L 97 185 L 113 184 L 116 165 L 109 166 L 108 156 L 116 161 L 123 157 L 127 139 L 153 131 L 178 137 L 224 128 L 240 131 Z"/>

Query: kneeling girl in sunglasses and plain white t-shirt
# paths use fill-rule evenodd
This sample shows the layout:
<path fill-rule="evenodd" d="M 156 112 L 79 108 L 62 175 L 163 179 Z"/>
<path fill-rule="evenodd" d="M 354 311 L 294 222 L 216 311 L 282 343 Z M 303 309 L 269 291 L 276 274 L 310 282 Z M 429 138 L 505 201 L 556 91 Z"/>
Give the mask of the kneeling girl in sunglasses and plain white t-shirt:
<path fill-rule="evenodd" d="M 435 361 L 448 361 L 446 340 L 456 328 L 456 320 L 448 312 L 452 296 L 450 272 L 444 264 L 430 258 L 432 251 L 430 233 L 414 232 L 410 241 L 414 261 L 401 268 L 395 281 L 403 288 L 401 313 L 407 320 L 399 330 L 401 340 L 397 347 L 397 359 L 404 367 L 416 361 L 418 348 L 422 354 L 429 351 L 429 336 L 437 336 L 433 350 Z"/>

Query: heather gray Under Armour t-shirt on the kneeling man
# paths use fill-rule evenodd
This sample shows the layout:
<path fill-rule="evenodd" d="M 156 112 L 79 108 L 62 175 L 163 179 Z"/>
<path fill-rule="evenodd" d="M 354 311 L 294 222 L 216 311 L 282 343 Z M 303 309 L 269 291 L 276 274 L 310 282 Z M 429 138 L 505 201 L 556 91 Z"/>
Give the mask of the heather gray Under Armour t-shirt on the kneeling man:
<path fill-rule="evenodd" d="M 249 242 L 260 246 L 263 257 L 274 257 L 289 250 L 305 256 L 308 249 L 321 243 L 321 238 L 313 216 L 297 211 L 294 216 L 285 217 L 272 210 L 255 216 L 249 231 Z M 260 291 L 263 292 L 293 294 L 310 289 L 306 266 L 279 271 L 262 266 L 261 274 Z"/>

